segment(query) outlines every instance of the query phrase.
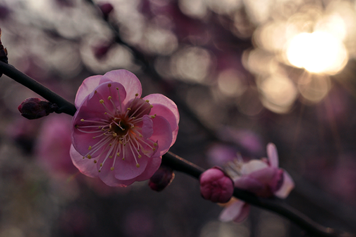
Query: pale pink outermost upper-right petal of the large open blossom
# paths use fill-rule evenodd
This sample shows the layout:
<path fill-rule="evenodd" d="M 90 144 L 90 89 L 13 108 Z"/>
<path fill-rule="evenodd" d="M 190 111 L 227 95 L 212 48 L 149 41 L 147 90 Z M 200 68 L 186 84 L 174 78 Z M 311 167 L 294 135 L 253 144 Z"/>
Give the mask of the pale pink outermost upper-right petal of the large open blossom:
<path fill-rule="evenodd" d="M 144 100 L 150 100 L 150 104 L 153 105 L 151 113 L 149 115 L 160 115 L 167 119 L 173 132 L 173 140 L 171 145 L 175 142 L 178 133 L 178 123 L 180 120 L 177 106 L 168 97 L 162 94 L 150 94 L 143 98 Z"/>

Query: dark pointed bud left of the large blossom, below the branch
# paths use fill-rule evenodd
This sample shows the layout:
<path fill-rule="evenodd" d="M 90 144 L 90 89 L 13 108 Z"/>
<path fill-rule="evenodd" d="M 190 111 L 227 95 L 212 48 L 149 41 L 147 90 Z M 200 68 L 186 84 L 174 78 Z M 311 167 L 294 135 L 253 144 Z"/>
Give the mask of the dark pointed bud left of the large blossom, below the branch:
<path fill-rule="evenodd" d="M 58 107 L 56 104 L 40 98 L 27 98 L 17 109 L 27 119 L 38 119 L 53 113 Z"/>

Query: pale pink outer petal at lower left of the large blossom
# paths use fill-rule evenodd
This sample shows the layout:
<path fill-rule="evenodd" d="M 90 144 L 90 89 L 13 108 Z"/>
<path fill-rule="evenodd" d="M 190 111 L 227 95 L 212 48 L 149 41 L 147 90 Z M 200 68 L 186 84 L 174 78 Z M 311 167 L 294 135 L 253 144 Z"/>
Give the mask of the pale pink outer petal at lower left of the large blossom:
<path fill-rule="evenodd" d="M 72 158 L 73 164 L 78 168 L 78 170 L 89 177 L 98 177 L 98 170 L 96 164 L 94 164 L 93 160 L 88 158 L 84 158 L 80 155 L 73 145 L 71 145 L 69 154 Z"/>

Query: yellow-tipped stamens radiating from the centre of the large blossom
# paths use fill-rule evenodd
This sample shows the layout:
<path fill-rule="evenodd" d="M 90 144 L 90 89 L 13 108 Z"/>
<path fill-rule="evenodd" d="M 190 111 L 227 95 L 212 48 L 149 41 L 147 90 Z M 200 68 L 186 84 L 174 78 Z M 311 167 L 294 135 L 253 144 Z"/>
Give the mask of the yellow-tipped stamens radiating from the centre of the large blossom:
<path fill-rule="evenodd" d="M 104 114 L 107 118 L 100 120 L 85 120 L 82 118 L 80 120 L 82 123 L 75 125 L 75 128 L 80 132 L 100 133 L 93 137 L 98 142 L 88 147 L 88 152 L 83 156 L 83 159 L 91 159 L 95 155 L 94 163 L 97 163 L 101 157 L 105 156 L 98 171 L 101 172 L 101 168 L 107 159 L 112 159 L 110 169 L 113 171 L 116 159 L 125 160 L 128 153 L 131 153 L 135 159 L 136 167 L 140 167 L 138 159 L 142 157 L 142 154 L 153 154 L 158 146 L 151 139 L 145 139 L 141 133 L 142 128 L 137 126 L 138 123 L 142 122 L 143 115 L 149 114 L 153 106 L 149 104 L 149 100 L 138 98 L 138 94 L 136 94 L 128 108 L 124 109 L 118 88 L 116 88 L 116 91 L 120 106 L 116 106 L 111 96 L 111 84 L 108 84 L 108 87 L 110 96 L 106 98 L 107 101 L 98 96 L 99 103 L 105 108 Z M 97 94 L 97 91 L 95 91 L 95 94 Z M 114 111 L 110 111 L 105 103 L 111 103 Z M 150 117 L 153 119 L 156 115 Z M 101 152 L 97 155 L 99 151 Z"/>

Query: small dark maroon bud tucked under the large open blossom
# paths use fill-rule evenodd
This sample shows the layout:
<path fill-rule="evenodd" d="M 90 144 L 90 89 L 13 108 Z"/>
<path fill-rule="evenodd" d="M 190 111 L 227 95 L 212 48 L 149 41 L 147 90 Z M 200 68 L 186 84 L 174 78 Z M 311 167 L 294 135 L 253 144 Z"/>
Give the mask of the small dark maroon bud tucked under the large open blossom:
<path fill-rule="evenodd" d="M 149 186 L 159 192 L 167 187 L 174 179 L 173 170 L 170 167 L 161 165 L 156 173 L 150 178 Z"/>

